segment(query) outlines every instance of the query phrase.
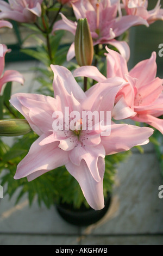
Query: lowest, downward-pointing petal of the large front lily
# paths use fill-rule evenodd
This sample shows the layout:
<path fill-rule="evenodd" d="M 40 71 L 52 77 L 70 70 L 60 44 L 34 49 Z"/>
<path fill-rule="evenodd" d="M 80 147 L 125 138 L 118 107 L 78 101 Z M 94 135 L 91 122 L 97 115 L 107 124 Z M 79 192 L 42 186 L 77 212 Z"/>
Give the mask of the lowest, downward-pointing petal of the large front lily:
<path fill-rule="evenodd" d="M 101 210 L 104 208 L 104 196 L 103 196 L 103 176 L 105 170 L 105 163 L 102 157 L 98 160 L 99 174 L 101 180 L 97 182 L 93 179 L 89 168 L 84 160 L 81 161 L 80 166 L 69 162 L 66 164 L 66 169 L 74 178 L 79 182 L 82 188 L 84 197 L 91 208 L 95 210 Z"/>

